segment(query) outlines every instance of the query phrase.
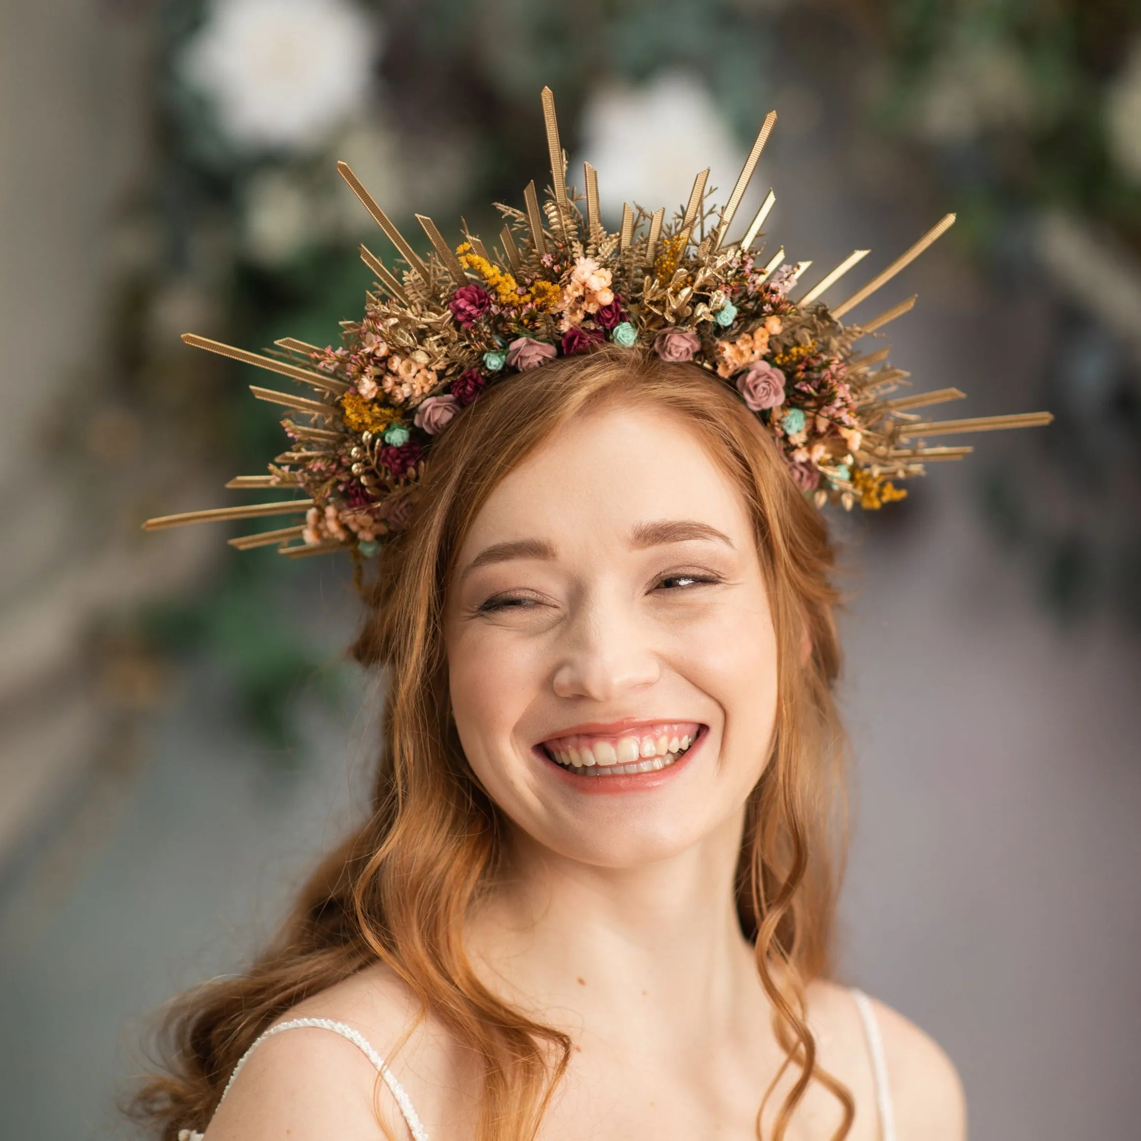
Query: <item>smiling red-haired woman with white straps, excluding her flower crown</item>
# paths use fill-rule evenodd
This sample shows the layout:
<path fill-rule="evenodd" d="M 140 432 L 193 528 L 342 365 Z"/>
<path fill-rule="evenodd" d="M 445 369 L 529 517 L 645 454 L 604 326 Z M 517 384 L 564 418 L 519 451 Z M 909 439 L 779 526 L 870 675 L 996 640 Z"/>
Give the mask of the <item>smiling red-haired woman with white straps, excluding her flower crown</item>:
<path fill-rule="evenodd" d="M 372 586 L 372 816 L 262 958 L 183 1000 L 144 1116 L 209 1141 L 958 1141 L 938 1047 L 828 981 L 831 565 L 697 366 L 601 347 L 488 390 Z"/>

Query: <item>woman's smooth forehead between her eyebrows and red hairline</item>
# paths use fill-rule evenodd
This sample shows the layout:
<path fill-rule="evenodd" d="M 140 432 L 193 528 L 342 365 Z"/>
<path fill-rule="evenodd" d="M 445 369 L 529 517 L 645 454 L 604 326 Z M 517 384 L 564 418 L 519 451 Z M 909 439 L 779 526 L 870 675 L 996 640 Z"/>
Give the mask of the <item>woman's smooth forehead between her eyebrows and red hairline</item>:
<path fill-rule="evenodd" d="M 487 543 L 599 542 L 648 521 L 751 531 L 736 484 L 698 435 L 656 408 L 602 407 L 558 429 L 488 496 L 461 559 Z"/>

